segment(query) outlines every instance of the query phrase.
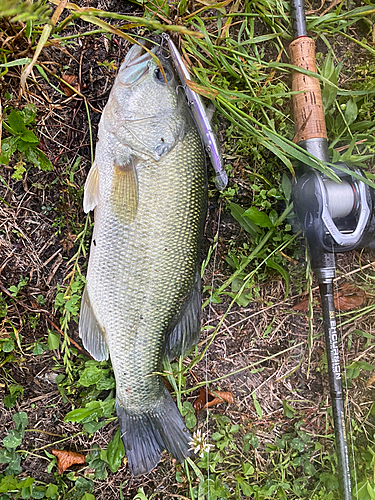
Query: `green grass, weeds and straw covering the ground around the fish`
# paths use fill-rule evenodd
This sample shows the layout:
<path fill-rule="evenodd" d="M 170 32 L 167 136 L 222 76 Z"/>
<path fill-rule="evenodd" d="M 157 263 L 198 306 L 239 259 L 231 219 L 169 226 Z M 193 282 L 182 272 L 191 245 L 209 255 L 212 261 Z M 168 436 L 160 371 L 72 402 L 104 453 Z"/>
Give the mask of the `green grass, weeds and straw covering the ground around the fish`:
<path fill-rule="evenodd" d="M 24 262 L 18 260 L 12 273 L 8 264 L 2 275 L 0 388 L 5 416 L 0 500 L 93 500 L 109 495 L 139 500 L 337 499 L 321 328 L 311 303 L 307 319 L 290 306 L 312 286 L 290 202 L 295 163 L 302 161 L 328 173 L 329 169 L 293 143 L 288 3 L 219 2 L 192 8 L 185 1 L 155 1 L 136 4 L 134 15 L 52 4 L 53 8 L 44 1 L 0 1 L 0 11 L 8 16 L 0 23 L 4 42 L 0 70 L 7 85 L 2 93 L 0 161 L 6 167 L 0 174 L 5 221 L 0 242 L 6 248 L 5 265 L 22 245 L 32 256 L 28 264 L 24 252 Z M 332 161 L 364 168 L 369 182 L 373 173 L 368 165 L 375 152 L 373 20 L 371 5 L 350 2 L 307 15 L 308 29 L 317 41 Z M 109 88 L 125 42 L 164 30 L 180 37 L 197 90 L 217 110 L 214 123 L 229 184 L 219 195 L 210 171 L 201 342 L 185 360 L 164 366 L 165 379 L 194 432 L 197 455 L 182 465 L 164 458 L 150 476 L 134 480 L 124 467 L 116 431 L 111 366 L 89 359 L 73 343 L 92 228 L 80 207 L 94 154 L 96 110 L 106 99 L 98 97 L 95 72 L 101 72 L 100 86 L 106 81 Z M 64 60 L 66 52 L 79 59 L 82 44 L 91 47 L 98 40 L 110 49 L 104 55 L 98 51 L 102 60 L 91 72 L 84 73 L 82 59 L 74 66 L 77 74 L 83 70 L 91 79 L 86 78 L 86 87 L 71 86 L 73 96 L 68 97 L 61 85 L 63 73 L 72 71 Z M 24 93 L 19 99 L 21 83 Z M 53 116 L 54 103 L 60 106 L 63 124 L 71 127 L 69 133 L 79 128 L 70 121 L 69 106 L 80 120 L 85 133 L 77 153 L 69 151 L 74 142 L 68 132 L 62 136 L 65 143 L 60 143 L 60 135 L 53 142 L 41 125 L 48 113 Z M 62 128 L 61 123 L 58 126 Z M 27 230 L 27 217 L 35 214 L 30 211 L 17 219 L 17 206 L 28 209 L 24 202 L 28 190 L 43 199 L 43 204 L 29 209 L 51 238 L 51 252 L 43 262 L 39 250 L 44 247 L 40 243 L 34 256 Z M 221 219 L 217 211 L 222 212 Z M 6 223 L 12 218 L 19 220 L 15 227 Z M 56 252 L 61 260 L 54 264 Z M 370 297 L 367 306 L 340 318 L 354 488 L 356 498 L 367 500 L 375 496 L 370 383 L 375 366 L 374 278 L 372 266 L 364 268 L 370 254 L 359 258 L 359 266 L 353 254 L 346 260 L 340 257 L 338 265 L 347 279 L 356 267 L 356 283 Z M 34 268 L 45 275 L 47 286 L 36 280 Z M 51 401 L 41 399 L 47 403 L 44 413 L 27 394 L 25 374 L 34 365 L 34 375 L 39 376 L 40 370 L 53 380 L 46 386 Z M 223 402 L 197 416 L 193 404 L 205 386 L 214 392 L 233 392 L 235 405 Z M 40 427 L 34 413 L 41 419 Z M 31 435 L 38 436 L 39 444 Z M 85 465 L 58 474 L 52 446 L 84 452 Z"/>

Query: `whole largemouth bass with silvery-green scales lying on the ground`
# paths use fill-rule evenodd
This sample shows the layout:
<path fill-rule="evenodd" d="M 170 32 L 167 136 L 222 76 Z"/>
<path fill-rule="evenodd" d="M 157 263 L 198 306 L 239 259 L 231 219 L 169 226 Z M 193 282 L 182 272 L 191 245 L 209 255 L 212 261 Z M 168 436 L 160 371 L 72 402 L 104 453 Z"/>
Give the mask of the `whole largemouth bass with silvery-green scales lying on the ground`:
<path fill-rule="evenodd" d="M 156 52 L 156 49 L 153 49 Z M 79 333 L 110 356 L 129 467 L 146 474 L 164 449 L 183 461 L 191 437 L 157 373 L 200 332 L 204 152 L 170 63 L 133 46 L 99 124 L 84 210 L 95 225 Z"/>

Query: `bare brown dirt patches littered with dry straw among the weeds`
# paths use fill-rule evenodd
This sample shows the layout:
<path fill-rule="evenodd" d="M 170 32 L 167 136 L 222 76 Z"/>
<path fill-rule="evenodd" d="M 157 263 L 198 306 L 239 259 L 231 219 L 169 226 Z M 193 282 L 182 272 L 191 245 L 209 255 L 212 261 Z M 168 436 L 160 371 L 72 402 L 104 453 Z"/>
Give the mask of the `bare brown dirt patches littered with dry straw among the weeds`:
<path fill-rule="evenodd" d="M 90 2 L 90 5 L 94 6 L 94 3 Z M 129 10 L 134 13 L 134 5 L 125 4 L 124 7 L 122 1 L 98 0 L 97 5 L 106 10 Z M 84 29 L 77 21 L 74 30 L 79 32 Z M 39 58 L 39 62 L 51 72 L 77 78 L 82 93 L 90 103 L 94 141 L 100 110 L 108 99 L 116 75 L 114 67 L 98 63 L 114 61 L 115 66 L 119 67 L 127 48 L 128 43 L 118 37 L 113 37 L 110 42 L 105 35 L 100 35 L 78 39 L 74 47 L 50 45 Z M 23 47 L 18 47 L 18 50 L 22 51 Z M 3 96 L 6 90 L 13 93 L 13 100 L 9 103 L 13 107 L 22 108 L 26 102 L 32 102 L 37 107 L 36 131 L 41 140 L 40 148 L 49 157 L 54 169 L 50 172 L 31 169 L 22 181 L 15 181 L 11 167 L 0 167 L 5 180 L 5 185 L 0 184 L 0 291 L 9 304 L 7 321 L 0 323 L 0 335 L 8 336 L 13 323 L 19 338 L 22 338 L 22 349 L 18 354 L 0 365 L 0 401 L 8 394 L 10 383 L 20 384 L 24 388 L 22 400 L 14 408 L 7 409 L 0 402 L 0 439 L 13 428 L 12 415 L 16 411 L 25 411 L 29 426 L 22 447 L 33 452 L 23 462 L 23 469 L 26 474 L 48 483 L 54 481 L 54 476 L 47 472 L 49 459 L 44 450 L 58 447 L 59 441 L 70 435 L 74 437 L 62 443 L 64 449 L 86 453 L 94 444 L 105 448 L 113 437 L 117 423 L 113 422 L 104 431 L 99 430 L 89 438 L 87 434 L 79 434 L 82 430 L 80 425 L 64 422 L 72 405 L 69 397 L 63 401 L 54 382 L 55 368 L 57 365 L 62 366 L 61 354 L 49 350 L 40 355 L 33 354 L 35 343 L 45 343 L 48 329 L 54 328 L 53 324 L 59 325 L 54 309 L 56 286 L 63 284 L 71 266 L 69 259 L 76 251 L 74 242 L 77 228 L 82 227 L 85 217 L 82 186 L 91 164 L 89 128 L 83 100 L 58 93 L 37 72 L 34 75 L 34 82 L 29 82 L 28 93 L 22 98 L 18 97 L 20 73 L 17 68 L 10 68 L 1 83 Z M 52 74 L 50 78 L 61 88 L 53 80 Z M 4 98 L 2 100 L 4 107 Z M 78 167 L 72 177 L 70 170 L 78 159 Z M 234 177 L 230 182 L 235 181 Z M 210 186 L 210 190 L 214 192 L 213 186 Z M 213 261 L 210 262 L 203 286 L 211 286 L 212 276 L 215 287 L 230 276 L 231 270 L 224 260 L 229 240 L 245 237 L 229 211 L 225 210 L 224 203 L 220 202 L 218 193 L 209 200 L 202 258 L 217 232 L 219 244 L 215 265 Z M 360 266 L 369 265 L 367 272 L 371 274 L 374 261 L 374 254 L 370 251 L 339 255 L 337 267 L 340 279 L 337 286 L 343 281 L 362 285 Z M 82 269 L 85 269 L 85 263 L 86 259 L 81 258 Z M 291 404 L 296 410 L 296 418 L 303 421 L 303 428 L 311 434 L 322 435 L 327 431 L 329 387 L 323 361 L 325 347 L 320 308 L 317 305 L 314 310 L 315 338 L 311 353 L 308 348 L 307 313 L 293 309 L 300 302 L 301 290 L 305 288 L 303 266 L 302 258 L 299 262 L 290 259 L 289 271 L 294 278 L 286 300 L 285 284 L 275 275 L 272 281 L 260 285 L 259 297 L 247 307 L 232 306 L 206 358 L 192 370 L 188 380 L 188 385 L 192 386 L 206 378 L 212 380 L 222 377 L 215 383 L 214 389 L 232 392 L 235 402 L 219 405 L 215 412 L 251 427 L 264 444 L 273 442 L 275 435 L 293 424 L 284 416 L 285 400 L 293 401 Z M 11 299 L 9 288 L 17 286 L 20 276 L 27 277 L 28 283 L 16 299 Z M 208 297 L 207 293 L 204 299 Z M 315 294 L 317 297 L 317 291 Z M 42 305 L 38 302 L 40 295 L 44 298 Z M 222 303 L 207 307 L 203 326 L 216 326 L 230 300 L 224 296 Z M 366 303 L 369 305 L 372 302 L 370 294 Z M 342 328 L 346 365 L 354 359 L 372 362 L 374 353 L 371 348 L 364 347 L 365 339 L 356 337 L 352 341 L 352 338 L 355 330 L 373 333 L 373 323 L 371 313 Z M 204 331 L 208 332 L 208 337 L 210 330 Z M 77 324 L 74 322 L 69 335 L 80 344 Z M 203 336 L 201 346 L 208 340 Z M 267 360 L 260 363 L 265 358 Z M 62 371 L 60 368 L 57 373 Z M 371 381 L 367 384 L 371 373 L 366 372 L 365 375 L 367 379 L 356 379 L 348 391 L 350 408 L 358 421 L 366 415 L 375 395 Z M 254 405 L 254 393 L 262 410 L 261 419 Z M 194 402 L 196 397 L 197 392 L 190 395 L 188 400 Z M 375 425 L 371 418 L 370 425 Z M 0 471 L 2 467 L 5 466 L 0 465 Z M 160 498 L 178 497 L 179 486 L 175 482 L 171 458 L 167 455 L 162 464 L 146 478 L 135 479 L 126 467 L 121 467 L 116 474 L 110 474 L 106 481 L 96 483 L 96 498 L 120 498 L 120 484 L 123 485 L 125 498 L 132 498 L 139 486 L 143 486 L 145 491 L 160 491 Z"/>

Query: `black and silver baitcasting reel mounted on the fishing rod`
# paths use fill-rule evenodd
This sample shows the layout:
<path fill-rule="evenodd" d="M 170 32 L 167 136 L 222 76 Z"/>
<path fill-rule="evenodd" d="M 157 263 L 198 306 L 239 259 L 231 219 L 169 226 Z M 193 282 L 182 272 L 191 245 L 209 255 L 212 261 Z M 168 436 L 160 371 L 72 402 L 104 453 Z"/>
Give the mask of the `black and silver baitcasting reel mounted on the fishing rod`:
<path fill-rule="evenodd" d="M 337 165 L 346 170 L 332 168 L 340 182 L 308 168 L 293 188 L 294 210 L 310 247 L 323 253 L 375 248 L 375 191 L 358 180 L 360 170 Z"/>

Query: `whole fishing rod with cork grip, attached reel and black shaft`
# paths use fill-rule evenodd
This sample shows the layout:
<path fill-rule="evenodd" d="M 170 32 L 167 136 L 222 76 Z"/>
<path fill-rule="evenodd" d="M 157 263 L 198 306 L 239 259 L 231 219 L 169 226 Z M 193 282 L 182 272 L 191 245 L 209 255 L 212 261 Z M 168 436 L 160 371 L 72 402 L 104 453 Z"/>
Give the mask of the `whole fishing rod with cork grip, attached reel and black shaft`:
<path fill-rule="evenodd" d="M 308 37 L 303 0 L 291 0 L 294 40 L 289 46 L 293 65 L 317 72 L 315 44 Z M 299 71 L 292 73 L 295 142 L 324 163 L 329 162 L 327 131 L 319 80 Z M 340 167 L 340 168 L 337 168 Z M 338 164 L 333 181 L 307 165 L 300 165 L 293 187 L 293 203 L 319 283 L 328 363 L 328 377 L 343 500 L 351 500 L 351 479 L 345 427 L 344 396 L 336 329 L 333 280 L 335 253 L 374 247 L 374 190 L 358 180 L 360 170 Z M 344 171 L 343 171 L 344 170 Z M 357 175 L 354 177 L 353 173 Z"/>

